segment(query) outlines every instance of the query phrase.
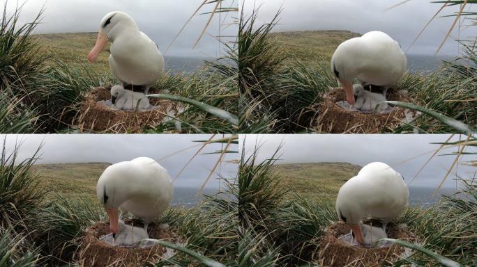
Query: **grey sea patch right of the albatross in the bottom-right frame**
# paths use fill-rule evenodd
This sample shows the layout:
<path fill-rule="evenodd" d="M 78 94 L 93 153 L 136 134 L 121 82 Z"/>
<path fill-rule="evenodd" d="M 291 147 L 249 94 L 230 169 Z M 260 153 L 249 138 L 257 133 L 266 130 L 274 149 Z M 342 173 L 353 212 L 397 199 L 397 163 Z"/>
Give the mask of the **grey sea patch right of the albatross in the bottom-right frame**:
<path fill-rule="evenodd" d="M 409 205 L 430 207 L 437 204 L 441 200 L 442 195 L 453 195 L 455 193 L 454 188 L 441 188 L 439 193 L 434 195 L 435 187 L 409 187 Z"/>

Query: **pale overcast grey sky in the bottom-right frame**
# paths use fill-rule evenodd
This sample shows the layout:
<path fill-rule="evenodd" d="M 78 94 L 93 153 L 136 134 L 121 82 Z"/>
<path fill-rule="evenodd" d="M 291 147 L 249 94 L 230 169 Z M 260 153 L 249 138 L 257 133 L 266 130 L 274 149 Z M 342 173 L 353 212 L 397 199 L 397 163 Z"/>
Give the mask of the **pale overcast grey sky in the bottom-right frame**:
<path fill-rule="evenodd" d="M 282 143 L 280 160 L 277 164 L 287 163 L 319 163 L 347 162 L 364 166 L 374 161 L 381 161 L 400 172 L 409 181 L 418 173 L 425 161 L 432 156 L 439 145 L 430 144 L 444 142 L 448 135 L 353 135 L 353 134 L 294 134 L 294 135 L 241 135 L 241 144 L 245 138 L 245 153 L 252 154 L 255 144 L 261 145 L 258 162 L 270 159 Z M 465 140 L 465 138 L 463 137 Z M 451 141 L 459 140 L 455 135 Z M 242 145 L 240 145 L 242 147 Z M 446 149 L 440 154 L 455 152 L 456 148 Z M 477 152 L 476 149 L 469 152 Z M 428 163 L 411 186 L 437 188 L 452 165 L 455 156 L 435 156 Z M 477 160 L 477 155 L 465 155 L 462 161 Z M 462 178 L 473 177 L 476 168 L 458 165 L 452 173 Z M 351 177 L 345 177 L 351 178 Z M 446 179 L 444 187 L 455 188 L 456 180 L 452 174 Z"/>

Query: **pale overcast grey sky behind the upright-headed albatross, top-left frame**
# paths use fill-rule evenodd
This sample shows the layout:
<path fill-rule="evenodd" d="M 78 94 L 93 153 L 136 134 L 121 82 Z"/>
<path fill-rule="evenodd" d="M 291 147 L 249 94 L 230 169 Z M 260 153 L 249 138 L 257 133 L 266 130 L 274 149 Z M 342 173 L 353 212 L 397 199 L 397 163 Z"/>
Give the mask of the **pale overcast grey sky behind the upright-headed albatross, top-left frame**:
<path fill-rule="evenodd" d="M 1 0 L 0 3 L 4 1 Z M 23 2 L 24 0 L 19 0 L 19 3 Z M 36 33 L 98 32 L 100 21 L 107 13 L 123 11 L 135 19 L 139 30 L 149 35 L 164 53 L 202 2 L 202 0 L 29 0 L 22 8 L 20 23 L 33 21 L 44 6 L 43 19 Z M 225 2 L 224 5 L 232 5 L 231 1 Z M 238 6 L 237 2 L 234 2 L 235 7 Z M 8 13 L 15 10 L 16 3 L 15 0 L 8 1 Z M 207 5 L 199 13 L 210 12 L 213 6 Z M 226 13 L 221 15 L 224 21 Z M 232 17 L 236 15 L 228 15 L 225 24 L 233 22 Z M 220 42 L 215 38 L 218 35 L 219 17 L 212 20 L 206 35 L 198 47 L 192 50 L 208 19 L 209 15 L 196 15 L 165 56 L 220 56 Z M 221 35 L 236 35 L 237 31 L 236 25 L 222 26 Z"/>

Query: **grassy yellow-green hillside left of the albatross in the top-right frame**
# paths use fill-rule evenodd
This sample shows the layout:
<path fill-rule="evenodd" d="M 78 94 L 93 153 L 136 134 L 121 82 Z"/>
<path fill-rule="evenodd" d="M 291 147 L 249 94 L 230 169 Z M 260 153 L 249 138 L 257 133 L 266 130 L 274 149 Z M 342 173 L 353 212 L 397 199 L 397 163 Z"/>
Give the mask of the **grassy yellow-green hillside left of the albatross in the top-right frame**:
<path fill-rule="evenodd" d="M 340 43 L 360 34 L 351 31 L 287 31 L 271 33 L 270 36 L 282 45 L 282 52 L 289 56 L 289 60 L 312 63 L 329 61 Z"/>

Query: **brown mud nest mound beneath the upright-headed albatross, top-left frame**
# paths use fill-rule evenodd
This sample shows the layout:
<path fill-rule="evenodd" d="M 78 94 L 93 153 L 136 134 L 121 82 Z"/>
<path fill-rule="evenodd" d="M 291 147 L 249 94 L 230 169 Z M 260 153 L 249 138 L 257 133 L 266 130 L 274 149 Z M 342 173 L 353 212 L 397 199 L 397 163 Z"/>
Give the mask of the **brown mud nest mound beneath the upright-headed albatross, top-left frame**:
<path fill-rule="evenodd" d="M 154 127 L 167 118 L 167 111 L 175 108 L 169 100 L 149 98 L 148 111 L 121 111 L 100 103 L 111 99 L 111 86 L 98 87 L 86 95 L 75 124 L 80 131 L 109 133 L 140 133 L 145 128 Z M 151 88 L 150 94 L 158 93 Z"/>

